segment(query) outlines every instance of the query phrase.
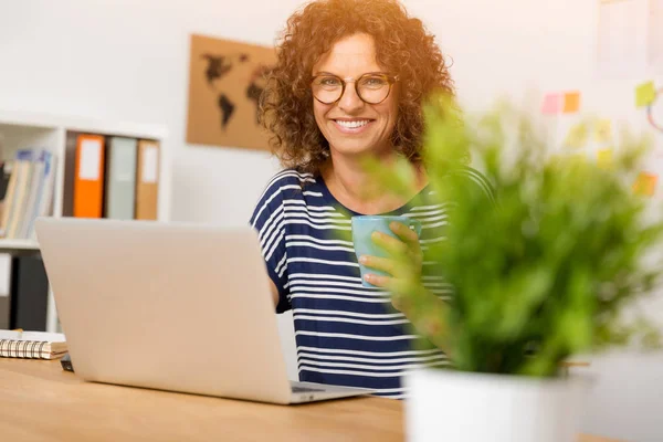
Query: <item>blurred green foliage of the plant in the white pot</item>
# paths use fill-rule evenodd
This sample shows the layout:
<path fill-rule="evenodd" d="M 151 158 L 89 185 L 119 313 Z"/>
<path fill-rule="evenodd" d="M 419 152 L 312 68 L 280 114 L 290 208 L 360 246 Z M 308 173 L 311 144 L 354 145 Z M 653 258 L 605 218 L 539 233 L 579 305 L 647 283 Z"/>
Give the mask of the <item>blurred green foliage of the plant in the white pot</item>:
<path fill-rule="evenodd" d="M 425 260 L 453 287 L 441 319 L 455 369 L 548 377 L 578 352 L 661 344 L 650 319 L 623 315 L 663 276 L 651 260 L 663 222 L 648 215 L 663 210 L 631 189 L 651 139 L 624 131 L 606 170 L 551 146 L 532 114 L 505 102 L 463 115 L 452 97 L 439 95 L 423 115 L 433 202 L 449 215 L 445 241 L 431 244 Z M 491 182 L 494 201 L 469 178 L 470 161 Z M 386 192 L 412 194 L 407 159 L 366 167 Z M 430 346 L 428 338 L 422 334 L 418 345 Z"/>

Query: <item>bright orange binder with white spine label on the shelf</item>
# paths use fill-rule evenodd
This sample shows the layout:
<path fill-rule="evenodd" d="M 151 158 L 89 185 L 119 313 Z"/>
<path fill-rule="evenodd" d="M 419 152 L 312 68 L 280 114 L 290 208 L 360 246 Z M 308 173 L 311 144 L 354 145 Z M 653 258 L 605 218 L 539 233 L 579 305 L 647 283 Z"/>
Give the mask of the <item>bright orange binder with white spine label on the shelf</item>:
<path fill-rule="evenodd" d="M 82 134 L 76 144 L 74 217 L 102 218 L 104 203 L 104 137 Z"/>

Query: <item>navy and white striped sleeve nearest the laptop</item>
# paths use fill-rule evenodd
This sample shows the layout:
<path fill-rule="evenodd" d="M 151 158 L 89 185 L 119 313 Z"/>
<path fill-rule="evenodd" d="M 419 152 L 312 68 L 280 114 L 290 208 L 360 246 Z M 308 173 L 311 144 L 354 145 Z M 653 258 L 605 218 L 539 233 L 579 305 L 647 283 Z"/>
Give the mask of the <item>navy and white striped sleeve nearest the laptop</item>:
<path fill-rule="evenodd" d="M 267 274 L 278 290 L 276 313 L 291 309 L 287 288 L 287 254 L 285 250 L 283 194 L 272 185 L 263 192 L 253 210 L 250 223 L 256 230 Z"/>

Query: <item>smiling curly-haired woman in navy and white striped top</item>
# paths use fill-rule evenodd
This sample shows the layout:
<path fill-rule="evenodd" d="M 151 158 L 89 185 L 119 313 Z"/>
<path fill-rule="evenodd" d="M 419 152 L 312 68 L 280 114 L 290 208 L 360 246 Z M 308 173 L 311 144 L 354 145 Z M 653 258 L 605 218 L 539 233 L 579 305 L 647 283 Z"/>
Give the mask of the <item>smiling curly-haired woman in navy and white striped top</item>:
<path fill-rule="evenodd" d="M 445 223 L 444 208 L 425 203 L 420 156 L 421 101 L 433 92 L 453 92 L 443 56 L 397 1 L 319 0 L 288 20 L 262 97 L 263 122 L 286 169 L 266 186 L 251 223 L 276 311 L 293 309 L 303 381 L 402 398 L 407 370 L 448 364 L 439 349 L 413 348 L 408 328 L 443 328 L 429 320 L 440 317 L 443 302 L 422 313 L 390 295 L 409 284 L 403 275 L 421 271 L 420 245 L 439 241 Z M 385 193 L 361 167 L 367 157 L 385 165 L 408 158 L 417 189 L 407 198 Z M 391 229 L 400 241 L 373 236 L 387 250 L 409 250 L 408 272 L 391 260 L 362 256 L 367 266 L 390 274 L 367 275 L 387 291 L 362 286 L 352 243 L 339 239 L 356 214 L 402 214 L 423 224 L 421 240 L 399 223 Z M 425 296 L 449 293 L 440 276 L 424 271 L 422 282 Z"/>

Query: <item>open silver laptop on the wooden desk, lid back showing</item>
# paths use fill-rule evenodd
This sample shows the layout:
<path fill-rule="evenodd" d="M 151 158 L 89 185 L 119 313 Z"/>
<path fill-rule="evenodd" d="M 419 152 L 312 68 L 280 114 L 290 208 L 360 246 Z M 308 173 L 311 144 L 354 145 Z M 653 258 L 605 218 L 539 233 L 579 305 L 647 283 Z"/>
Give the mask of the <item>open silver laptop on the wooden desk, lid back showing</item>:
<path fill-rule="evenodd" d="M 35 229 L 85 380 L 282 404 L 371 392 L 288 380 L 249 225 L 40 218 Z"/>

